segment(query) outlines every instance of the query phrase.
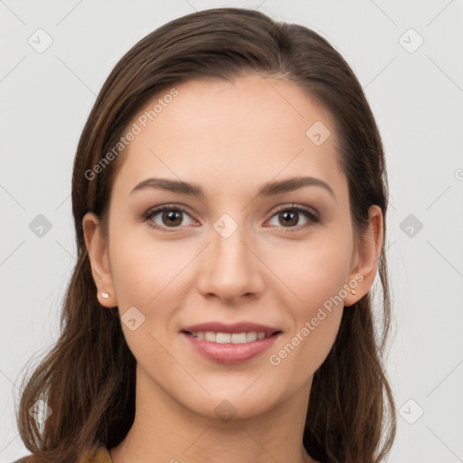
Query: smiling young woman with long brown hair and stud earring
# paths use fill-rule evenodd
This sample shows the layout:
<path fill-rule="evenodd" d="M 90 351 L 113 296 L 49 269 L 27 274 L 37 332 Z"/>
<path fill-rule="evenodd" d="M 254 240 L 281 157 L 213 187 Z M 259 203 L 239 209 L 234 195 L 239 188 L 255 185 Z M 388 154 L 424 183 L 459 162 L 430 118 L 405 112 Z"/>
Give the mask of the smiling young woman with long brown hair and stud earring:
<path fill-rule="evenodd" d="M 24 461 L 388 454 L 383 146 L 325 39 L 238 8 L 148 34 L 90 113 L 72 207 L 79 259 L 21 398 Z"/>

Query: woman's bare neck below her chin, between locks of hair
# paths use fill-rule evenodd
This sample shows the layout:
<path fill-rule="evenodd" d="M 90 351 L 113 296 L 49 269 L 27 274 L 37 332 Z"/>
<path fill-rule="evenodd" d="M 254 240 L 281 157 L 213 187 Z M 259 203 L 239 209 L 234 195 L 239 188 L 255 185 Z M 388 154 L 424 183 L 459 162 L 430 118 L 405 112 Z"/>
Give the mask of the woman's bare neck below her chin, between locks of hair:
<path fill-rule="evenodd" d="M 137 366 L 136 415 L 113 463 L 317 463 L 302 445 L 310 384 L 241 419 L 203 416 L 176 402 Z"/>

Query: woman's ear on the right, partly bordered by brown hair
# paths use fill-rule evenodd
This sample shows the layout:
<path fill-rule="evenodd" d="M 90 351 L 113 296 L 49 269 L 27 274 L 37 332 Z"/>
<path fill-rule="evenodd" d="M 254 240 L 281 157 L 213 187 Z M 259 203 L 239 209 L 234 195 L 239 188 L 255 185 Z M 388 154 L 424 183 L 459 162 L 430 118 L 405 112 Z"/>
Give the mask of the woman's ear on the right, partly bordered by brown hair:
<path fill-rule="evenodd" d="M 372 288 L 378 269 L 383 247 L 383 212 L 378 205 L 373 205 L 370 206 L 368 215 L 368 227 L 355 244 L 353 269 L 346 287 L 348 294 L 345 307 L 352 306 Z M 355 294 L 351 293 L 350 288 L 354 289 Z"/>

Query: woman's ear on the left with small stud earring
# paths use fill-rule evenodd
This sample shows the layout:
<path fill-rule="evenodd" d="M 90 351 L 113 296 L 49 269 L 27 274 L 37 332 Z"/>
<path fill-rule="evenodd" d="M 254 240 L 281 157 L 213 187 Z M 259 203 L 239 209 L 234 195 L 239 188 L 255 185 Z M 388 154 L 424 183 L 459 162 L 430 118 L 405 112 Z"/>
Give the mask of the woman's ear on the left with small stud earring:
<path fill-rule="evenodd" d="M 82 219 L 85 245 L 89 252 L 91 274 L 98 288 L 97 298 L 103 307 L 116 307 L 118 301 L 109 266 L 108 243 L 102 236 L 99 218 L 94 213 L 86 213 Z M 108 293 L 109 298 L 103 298 Z"/>

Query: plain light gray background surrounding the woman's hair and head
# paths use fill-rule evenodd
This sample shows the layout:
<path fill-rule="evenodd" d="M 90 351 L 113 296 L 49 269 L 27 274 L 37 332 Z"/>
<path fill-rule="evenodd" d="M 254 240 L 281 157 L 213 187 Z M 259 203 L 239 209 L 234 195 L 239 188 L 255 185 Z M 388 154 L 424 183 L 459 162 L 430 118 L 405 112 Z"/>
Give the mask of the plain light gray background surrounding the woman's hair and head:
<path fill-rule="evenodd" d="M 401 414 L 388 461 L 463 461 L 463 2 L 5 0 L 0 462 L 28 453 L 14 420 L 17 386 L 30 356 L 45 354 L 58 336 L 75 262 L 71 167 L 95 97 L 139 39 L 215 6 L 258 8 L 307 25 L 362 83 L 391 186 L 387 242 L 397 329 L 387 368 Z M 39 36 L 39 28 L 46 33 Z M 52 44 L 38 52 L 28 41 L 38 47 L 46 34 Z M 42 236 L 39 214 L 52 225 Z"/>

